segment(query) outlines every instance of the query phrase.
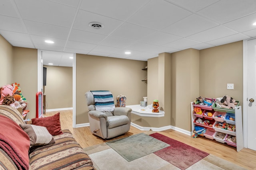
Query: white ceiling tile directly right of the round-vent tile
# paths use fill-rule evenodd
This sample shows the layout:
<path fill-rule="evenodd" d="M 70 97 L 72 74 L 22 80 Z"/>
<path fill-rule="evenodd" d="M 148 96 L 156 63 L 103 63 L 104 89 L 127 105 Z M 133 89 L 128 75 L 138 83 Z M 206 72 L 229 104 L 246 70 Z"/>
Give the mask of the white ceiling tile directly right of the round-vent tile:
<path fill-rule="evenodd" d="M 111 36 L 136 41 L 153 32 L 155 32 L 153 29 L 131 23 L 124 23 L 121 27 L 116 29 Z"/>

